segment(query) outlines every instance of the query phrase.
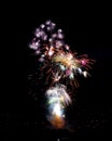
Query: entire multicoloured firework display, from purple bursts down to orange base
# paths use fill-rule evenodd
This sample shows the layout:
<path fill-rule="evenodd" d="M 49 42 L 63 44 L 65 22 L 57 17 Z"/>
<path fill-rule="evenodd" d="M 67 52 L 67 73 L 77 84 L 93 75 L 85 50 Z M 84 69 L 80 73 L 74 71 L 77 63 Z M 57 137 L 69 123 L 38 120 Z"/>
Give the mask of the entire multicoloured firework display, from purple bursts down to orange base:
<path fill-rule="evenodd" d="M 56 24 L 46 21 L 34 31 L 34 37 L 29 44 L 34 50 L 41 64 L 41 72 L 45 76 L 48 87 L 45 91 L 47 98 L 47 119 L 55 128 L 65 126 L 65 110 L 72 103 L 68 93 L 68 86 L 79 87 L 76 76 L 89 76 L 88 69 L 94 60 L 86 54 L 78 55 L 65 42 L 65 36 Z"/>

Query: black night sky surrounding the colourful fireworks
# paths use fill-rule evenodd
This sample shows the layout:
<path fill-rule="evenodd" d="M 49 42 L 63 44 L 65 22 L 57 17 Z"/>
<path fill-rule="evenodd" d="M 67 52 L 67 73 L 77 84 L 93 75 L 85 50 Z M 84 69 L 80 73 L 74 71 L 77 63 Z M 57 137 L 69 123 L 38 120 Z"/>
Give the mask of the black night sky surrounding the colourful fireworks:
<path fill-rule="evenodd" d="M 4 9 L 1 18 L 3 87 L 0 94 L 0 129 L 37 132 L 33 136 L 26 134 L 25 139 L 30 137 L 31 140 L 51 139 L 51 136 L 52 140 L 96 139 L 97 136 L 107 139 L 112 128 L 110 8 L 79 9 L 76 5 L 71 8 L 65 4 L 45 7 L 45 3 L 43 7 L 43 3 L 13 3 Z M 37 57 L 28 48 L 33 30 L 46 20 L 52 20 L 64 30 L 66 42 L 73 50 L 96 60 L 90 70 L 92 76 L 80 80 L 75 102 L 67 111 L 67 127 L 61 130 L 51 128 L 45 118 L 45 98 L 41 92 L 43 88 L 34 85 L 38 81 Z"/>

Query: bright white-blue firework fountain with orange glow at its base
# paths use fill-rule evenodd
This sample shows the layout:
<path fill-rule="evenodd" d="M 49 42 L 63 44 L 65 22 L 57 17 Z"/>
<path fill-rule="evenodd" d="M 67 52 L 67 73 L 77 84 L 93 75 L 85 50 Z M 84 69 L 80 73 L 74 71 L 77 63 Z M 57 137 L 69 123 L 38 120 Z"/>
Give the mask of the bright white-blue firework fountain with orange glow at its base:
<path fill-rule="evenodd" d="M 71 103 L 71 99 L 64 86 L 52 87 L 45 92 L 50 115 L 47 119 L 56 128 L 62 128 L 65 125 L 65 107 Z"/>

